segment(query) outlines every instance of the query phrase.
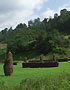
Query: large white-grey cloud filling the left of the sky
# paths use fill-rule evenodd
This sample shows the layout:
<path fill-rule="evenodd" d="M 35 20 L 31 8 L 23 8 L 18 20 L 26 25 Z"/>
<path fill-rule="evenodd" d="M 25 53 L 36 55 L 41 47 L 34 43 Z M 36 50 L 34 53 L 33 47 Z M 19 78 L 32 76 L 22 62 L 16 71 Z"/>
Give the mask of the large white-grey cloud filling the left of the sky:
<path fill-rule="evenodd" d="M 27 22 L 36 17 L 34 9 L 40 10 L 48 0 L 0 0 L 0 29 Z"/>

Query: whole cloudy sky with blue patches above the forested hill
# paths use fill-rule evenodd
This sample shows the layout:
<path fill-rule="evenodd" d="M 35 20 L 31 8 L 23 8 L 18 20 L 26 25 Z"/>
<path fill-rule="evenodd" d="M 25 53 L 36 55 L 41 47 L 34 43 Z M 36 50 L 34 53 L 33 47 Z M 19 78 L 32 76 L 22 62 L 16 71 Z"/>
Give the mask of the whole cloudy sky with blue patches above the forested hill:
<path fill-rule="evenodd" d="M 0 30 L 37 17 L 53 17 L 63 8 L 70 10 L 70 0 L 0 0 Z"/>

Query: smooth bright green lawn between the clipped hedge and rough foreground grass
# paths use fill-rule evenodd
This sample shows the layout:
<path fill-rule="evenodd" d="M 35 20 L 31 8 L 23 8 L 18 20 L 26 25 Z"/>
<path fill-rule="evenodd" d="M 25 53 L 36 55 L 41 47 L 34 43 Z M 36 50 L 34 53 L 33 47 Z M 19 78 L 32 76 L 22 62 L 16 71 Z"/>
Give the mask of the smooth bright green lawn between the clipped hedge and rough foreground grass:
<path fill-rule="evenodd" d="M 0 83 L 4 83 L 5 86 L 9 87 L 19 86 L 20 82 L 25 79 L 52 79 L 61 75 L 70 75 L 70 62 L 59 63 L 59 67 L 56 68 L 22 68 L 22 64 L 19 63 L 14 66 L 12 76 L 4 76 L 3 65 L 0 65 Z"/>

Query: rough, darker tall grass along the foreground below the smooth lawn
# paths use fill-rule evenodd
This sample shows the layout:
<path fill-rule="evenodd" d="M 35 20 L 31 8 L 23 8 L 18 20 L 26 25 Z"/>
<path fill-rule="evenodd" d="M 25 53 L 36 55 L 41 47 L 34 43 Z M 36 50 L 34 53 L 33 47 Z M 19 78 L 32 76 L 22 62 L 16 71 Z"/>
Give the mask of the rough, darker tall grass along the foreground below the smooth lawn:
<path fill-rule="evenodd" d="M 57 75 L 53 78 L 27 78 L 15 87 L 0 82 L 0 90 L 70 90 L 70 74 Z"/>

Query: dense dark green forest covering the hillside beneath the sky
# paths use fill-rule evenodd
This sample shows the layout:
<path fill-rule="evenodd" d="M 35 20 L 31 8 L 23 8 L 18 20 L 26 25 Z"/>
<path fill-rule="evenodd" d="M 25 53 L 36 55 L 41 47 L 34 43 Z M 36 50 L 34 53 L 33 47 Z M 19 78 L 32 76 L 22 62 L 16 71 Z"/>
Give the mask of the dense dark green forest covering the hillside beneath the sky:
<path fill-rule="evenodd" d="M 13 30 L 5 28 L 0 32 L 0 42 L 7 43 L 13 53 L 37 50 L 39 53 L 65 53 L 70 45 L 70 11 L 63 9 L 60 16 L 54 18 L 40 18 L 20 23 Z M 67 36 L 67 37 L 65 37 Z"/>

